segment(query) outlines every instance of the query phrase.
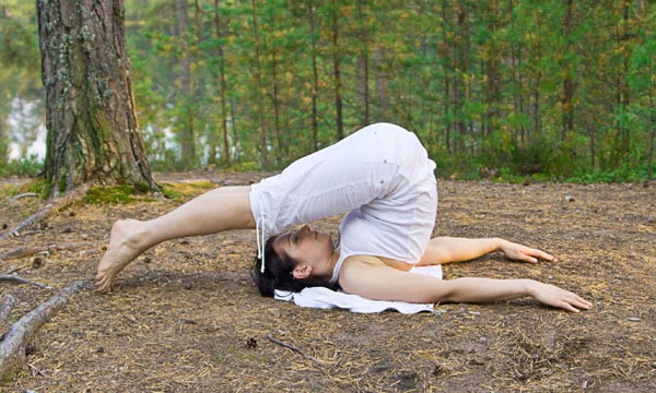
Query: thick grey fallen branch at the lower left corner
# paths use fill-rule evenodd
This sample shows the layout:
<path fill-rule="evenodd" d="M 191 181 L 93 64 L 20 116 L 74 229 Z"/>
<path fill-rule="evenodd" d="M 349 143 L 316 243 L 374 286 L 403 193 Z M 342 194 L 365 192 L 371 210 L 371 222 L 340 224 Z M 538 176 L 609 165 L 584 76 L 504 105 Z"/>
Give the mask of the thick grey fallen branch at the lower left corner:
<path fill-rule="evenodd" d="M 48 322 L 84 284 L 74 282 L 16 321 L 0 342 L 0 378 L 25 360 L 25 348 L 40 326 Z"/>

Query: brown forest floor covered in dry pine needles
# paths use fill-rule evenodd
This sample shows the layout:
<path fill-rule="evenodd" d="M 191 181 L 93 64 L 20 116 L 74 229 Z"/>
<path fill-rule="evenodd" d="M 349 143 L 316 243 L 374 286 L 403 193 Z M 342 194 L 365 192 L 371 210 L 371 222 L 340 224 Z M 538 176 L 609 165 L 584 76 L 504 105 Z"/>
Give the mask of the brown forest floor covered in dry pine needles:
<path fill-rule="evenodd" d="M 183 200 L 262 174 L 159 174 Z M 0 225 L 43 201 L 10 201 Z M 38 333 L 2 392 L 654 392 L 656 391 L 656 183 L 508 184 L 440 180 L 434 235 L 497 236 L 540 247 L 555 262 L 493 253 L 445 266 L 445 277 L 530 277 L 595 303 L 570 313 L 531 299 L 436 305 L 438 312 L 358 314 L 261 298 L 249 269 L 255 233 L 162 243 L 118 277 L 113 293 L 84 290 Z M 150 218 L 180 201 L 75 204 L 0 242 L 82 242 L 0 261 L 0 274 L 50 285 L 0 283 L 17 299 L 14 322 L 57 289 L 91 283 L 112 223 Z M 337 231 L 340 217 L 315 223 Z M 2 331 L 7 325 L 0 326 Z M 273 337 L 307 355 L 283 347 Z"/>

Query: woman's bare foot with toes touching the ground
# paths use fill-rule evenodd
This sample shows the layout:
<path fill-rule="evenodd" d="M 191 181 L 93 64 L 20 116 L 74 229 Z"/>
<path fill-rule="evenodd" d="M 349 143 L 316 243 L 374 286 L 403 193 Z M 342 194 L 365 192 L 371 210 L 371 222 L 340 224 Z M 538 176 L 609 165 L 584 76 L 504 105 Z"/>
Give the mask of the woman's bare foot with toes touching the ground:
<path fill-rule="evenodd" d="M 148 248 L 140 245 L 137 236 L 142 224 L 137 219 L 114 223 L 109 246 L 97 267 L 96 287 L 99 291 L 108 291 L 116 275 Z"/>

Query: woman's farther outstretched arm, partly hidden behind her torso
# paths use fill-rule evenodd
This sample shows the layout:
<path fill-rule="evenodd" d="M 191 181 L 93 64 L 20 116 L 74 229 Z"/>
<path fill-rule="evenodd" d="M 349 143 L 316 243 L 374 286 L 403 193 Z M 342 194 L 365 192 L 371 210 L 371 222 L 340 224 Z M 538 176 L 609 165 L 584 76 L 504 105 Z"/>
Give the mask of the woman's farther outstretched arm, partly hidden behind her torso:
<path fill-rule="evenodd" d="M 512 260 L 530 263 L 538 262 L 538 259 L 553 260 L 553 255 L 544 251 L 500 238 L 468 239 L 444 236 L 431 239 L 418 265 L 469 261 L 493 251 L 502 251 Z"/>

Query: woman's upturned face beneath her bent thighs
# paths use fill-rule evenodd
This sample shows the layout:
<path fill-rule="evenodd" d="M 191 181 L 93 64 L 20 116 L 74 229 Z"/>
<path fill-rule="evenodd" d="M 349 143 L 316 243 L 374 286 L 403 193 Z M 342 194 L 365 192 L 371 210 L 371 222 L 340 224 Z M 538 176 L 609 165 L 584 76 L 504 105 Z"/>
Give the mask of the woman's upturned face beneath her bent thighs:
<path fill-rule="evenodd" d="M 276 252 L 288 255 L 298 264 L 312 265 L 315 274 L 332 271 L 330 258 L 335 252 L 332 237 L 328 234 L 312 230 L 305 225 L 298 230 L 280 236 L 273 243 Z"/>

